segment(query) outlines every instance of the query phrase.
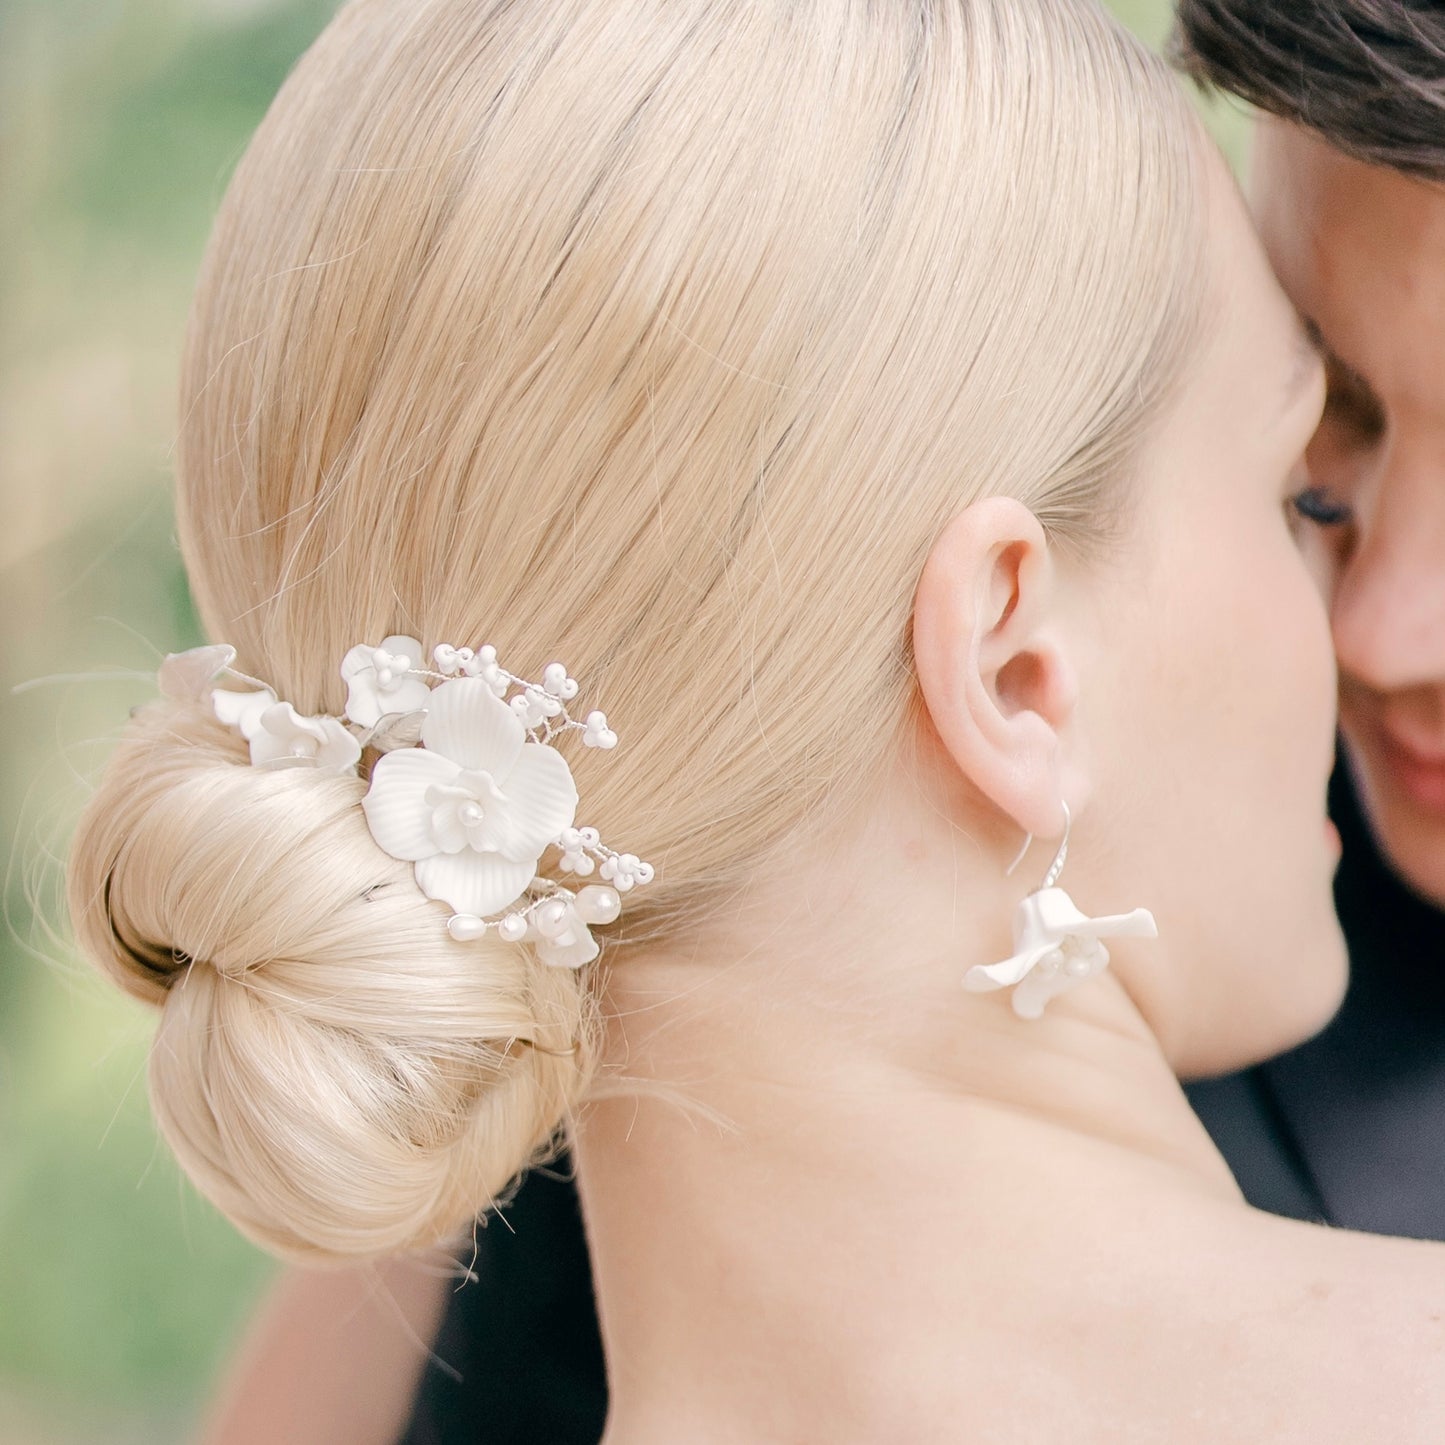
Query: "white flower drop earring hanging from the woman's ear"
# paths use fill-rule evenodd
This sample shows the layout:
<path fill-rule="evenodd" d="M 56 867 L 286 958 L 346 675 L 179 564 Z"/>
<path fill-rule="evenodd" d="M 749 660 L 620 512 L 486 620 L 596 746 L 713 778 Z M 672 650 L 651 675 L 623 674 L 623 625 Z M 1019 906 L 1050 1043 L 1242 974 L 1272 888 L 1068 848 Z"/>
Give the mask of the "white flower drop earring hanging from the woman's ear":
<path fill-rule="evenodd" d="M 1064 841 L 1049 864 L 1043 883 L 1019 903 L 1013 915 L 1013 957 L 1001 964 L 978 964 L 964 975 L 970 993 L 1013 988 L 1013 1012 L 1020 1019 L 1038 1019 L 1045 1004 L 1097 977 L 1108 967 L 1103 938 L 1157 938 L 1159 928 L 1149 909 L 1090 918 L 1074 899 L 1056 887 L 1069 853 L 1069 805 L 1064 808 Z M 1012 874 L 1023 861 L 1033 834 L 1025 840 Z"/>

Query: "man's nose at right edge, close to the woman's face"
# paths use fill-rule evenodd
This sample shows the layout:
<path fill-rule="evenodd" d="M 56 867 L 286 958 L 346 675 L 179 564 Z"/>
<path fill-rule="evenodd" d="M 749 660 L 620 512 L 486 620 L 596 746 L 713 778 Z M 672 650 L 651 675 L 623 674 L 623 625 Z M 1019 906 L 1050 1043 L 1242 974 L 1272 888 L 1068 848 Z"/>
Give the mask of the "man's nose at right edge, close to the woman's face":
<path fill-rule="evenodd" d="M 1445 458 L 1431 473 L 1381 478 L 1337 579 L 1340 668 L 1377 692 L 1445 685 Z"/>

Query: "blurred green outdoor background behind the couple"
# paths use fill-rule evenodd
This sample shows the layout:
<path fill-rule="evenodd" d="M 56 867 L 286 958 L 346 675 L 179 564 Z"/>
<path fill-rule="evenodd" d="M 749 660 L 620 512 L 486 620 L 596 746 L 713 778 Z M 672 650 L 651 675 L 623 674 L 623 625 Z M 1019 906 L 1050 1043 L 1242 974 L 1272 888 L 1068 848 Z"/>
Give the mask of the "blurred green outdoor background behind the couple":
<path fill-rule="evenodd" d="M 58 860 L 160 655 L 199 640 L 169 496 L 185 311 L 231 166 L 334 9 L 0 0 L 0 1445 L 188 1438 L 272 1269 L 158 1143 L 150 1017 L 74 958 Z M 1165 0 L 1114 9 L 1168 29 Z M 1237 160 L 1244 118 L 1209 120 Z M 53 673 L 101 676 L 12 695 Z"/>

